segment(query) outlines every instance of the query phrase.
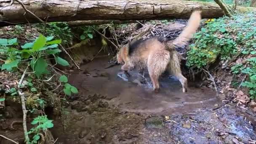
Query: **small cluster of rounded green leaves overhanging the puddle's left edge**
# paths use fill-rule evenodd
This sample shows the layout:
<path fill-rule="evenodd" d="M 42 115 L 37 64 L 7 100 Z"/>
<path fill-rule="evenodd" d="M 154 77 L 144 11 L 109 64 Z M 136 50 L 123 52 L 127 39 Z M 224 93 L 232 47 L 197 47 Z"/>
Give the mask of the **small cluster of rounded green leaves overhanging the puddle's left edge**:
<path fill-rule="evenodd" d="M 76 87 L 74 87 L 73 85 L 70 85 L 68 82 L 68 79 L 65 75 L 62 75 L 61 77 L 59 77 L 59 81 L 61 83 L 64 83 L 64 88 L 63 88 L 63 92 L 68 95 L 71 96 L 72 93 L 76 94 L 78 93 L 78 90 Z"/>

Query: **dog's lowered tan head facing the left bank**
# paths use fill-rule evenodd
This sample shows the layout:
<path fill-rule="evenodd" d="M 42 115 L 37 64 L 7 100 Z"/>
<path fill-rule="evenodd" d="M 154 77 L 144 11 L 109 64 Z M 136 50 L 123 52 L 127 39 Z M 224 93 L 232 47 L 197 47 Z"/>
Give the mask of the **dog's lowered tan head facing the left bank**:
<path fill-rule="evenodd" d="M 128 45 L 122 47 L 120 49 L 120 51 L 117 53 L 117 62 L 119 64 L 123 64 L 121 69 L 124 71 L 129 71 L 129 70 L 133 69 L 133 65 L 131 64 L 128 54 L 129 54 L 129 46 Z"/>

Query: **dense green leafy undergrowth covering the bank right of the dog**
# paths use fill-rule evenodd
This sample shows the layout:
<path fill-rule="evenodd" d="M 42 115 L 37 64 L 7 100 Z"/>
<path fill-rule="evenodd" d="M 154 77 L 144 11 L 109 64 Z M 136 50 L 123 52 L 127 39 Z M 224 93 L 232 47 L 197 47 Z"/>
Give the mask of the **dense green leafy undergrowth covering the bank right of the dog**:
<path fill-rule="evenodd" d="M 207 21 L 196 33 L 195 44 L 188 52 L 187 66 L 192 69 L 208 69 L 220 56 L 222 68 L 234 77 L 232 86 L 249 90 L 256 99 L 256 12 Z"/>

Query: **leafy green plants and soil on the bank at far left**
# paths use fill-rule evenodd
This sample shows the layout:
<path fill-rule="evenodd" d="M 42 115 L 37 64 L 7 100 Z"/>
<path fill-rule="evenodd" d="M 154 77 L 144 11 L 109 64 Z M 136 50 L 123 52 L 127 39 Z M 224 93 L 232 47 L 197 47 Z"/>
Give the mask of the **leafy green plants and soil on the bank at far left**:
<path fill-rule="evenodd" d="M 0 102 L 8 99 L 21 103 L 21 96 L 25 96 L 29 113 L 38 115 L 31 123 L 36 126 L 26 133 L 30 137 L 26 139 L 29 144 L 36 144 L 41 131 L 46 132 L 53 127 L 44 108 L 50 106 L 61 111 L 60 103 L 65 101 L 65 97 L 78 93 L 77 88 L 68 83 L 67 76 L 61 75 L 55 67 L 57 64 L 69 66 L 69 62 L 59 56 L 61 42 L 54 36 L 41 34 L 24 44 L 17 38 L 0 38 L 0 92 L 4 93 Z M 50 57 L 55 64 L 51 64 Z M 58 96 L 59 93 L 64 93 L 64 96 Z"/>

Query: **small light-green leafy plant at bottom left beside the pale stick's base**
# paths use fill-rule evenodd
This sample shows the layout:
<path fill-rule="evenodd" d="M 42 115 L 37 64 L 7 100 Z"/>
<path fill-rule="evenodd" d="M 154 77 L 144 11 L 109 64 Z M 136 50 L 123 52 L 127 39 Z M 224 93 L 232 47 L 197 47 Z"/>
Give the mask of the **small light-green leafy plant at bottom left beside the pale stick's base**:
<path fill-rule="evenodd" d="M 26 139 L 25 141 L 28 141 L 29 144 L 37 144 L 37 141 L 40 139 L 40 133 L 41 131 L 45 132 L 48 128 L 53 128 L 53 120 L 48 120 L 47 115 L 42 115 L 36 117 L 31 124 L 36 125 L 36 127 L 31 128 L 27 135 L 34 134 L 32 141 L 30 139 Z"/>

